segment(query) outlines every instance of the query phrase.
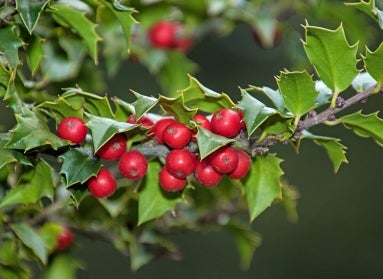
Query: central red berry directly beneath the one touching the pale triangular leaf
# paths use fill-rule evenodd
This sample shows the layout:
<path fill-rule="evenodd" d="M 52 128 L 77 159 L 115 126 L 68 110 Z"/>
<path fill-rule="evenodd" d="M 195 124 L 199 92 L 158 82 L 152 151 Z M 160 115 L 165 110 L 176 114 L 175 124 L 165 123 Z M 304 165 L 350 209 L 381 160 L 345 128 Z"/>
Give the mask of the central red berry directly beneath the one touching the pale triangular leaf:
<path fill-rule="evenodd" d="M 166 156 L 167 171 L 179 178 L 185 178 L 195 170 L 197 158 L 187 149 L 173 149 Z"/>

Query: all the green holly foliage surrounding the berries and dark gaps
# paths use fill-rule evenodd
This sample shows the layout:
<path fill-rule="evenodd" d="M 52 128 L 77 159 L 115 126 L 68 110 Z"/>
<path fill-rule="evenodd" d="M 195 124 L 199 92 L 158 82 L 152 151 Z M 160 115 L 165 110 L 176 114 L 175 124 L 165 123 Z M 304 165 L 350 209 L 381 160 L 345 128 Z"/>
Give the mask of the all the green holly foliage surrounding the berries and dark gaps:
<path fill-rule="evenodd" d="M 358 29 L 366 19 L 354 20 L 362 12 L 382 28 L 375 1 L 342 4 L 352 16 L 330 28 L 307 20 L 302 38 L 306 69 L 281 71 L 275 88 L 240 88 L 239 101 L 197 80 L 187 49 L 159 49 L 147 40 L 150 26 L 163 19 L 182 22 L 183 35 L 194 43 L 209 34 L 224 36 L 245 23 L 263 47 L 273 47 L 276 32 L 289 33 L 283 28 L 289 27 L 292 13 L 317 21 L 317 7 L 329 11 L 339 4 L 272 2 L 0 1 L 0 96 L 16 120 L 13 129 L 0 134 L 1 278 L 30 278 L 31 263 L 41 267 L 43 278 L 75 278 L 81 263 L 54 251 L 59 225 L 110 241 L 129 253 L 133 270 L 159 255 L 177 255 L 167 238 L 173 230 L 220 228 L 233 235 L 246 268 L 260 245 L 250 223 L 274 203 L 296 216 L 297 193 L 285 181 L 283 159 L 270 151 L 273 146 L 288 143 L 298 151 L 302 140 L 312 140 L 324 148 L 337 172 L 348 162 L 346 146 L 341 139 L 314 134 L 312 127 L 343 125 L 382 145 L 379 112 L 344 111 L 382 91 L 383 43 L 367 46 L 367 25 Z M 347 40 L 347 28 L 359 43 Z M 124 59 L 146 66 L 166 93 L 132 91 L 132 103 L 104 96 L 100 71 L 112 76 Z M 59 88 L 65 88 L 61 94 Z M 355 94 L 347 97 L 347 91 Z M 211 116 L 220 108 L 243 113 L 245 128 L 236 137 L 214 134 L 193 120 L 197 113 Z M 337 118 L 339 112 L 343 114 Z M 212 188 L 190 176 L 184 190 L 164 192 L 158 173 L 169 148 L 139 122 L 127 123 L 131 114 L 153 121 L 171 116 L 197 131 L 196 142 L 187 148 L 200 159 L 226 145 L 243 149 L 252 157 L 250 171 L 243 179 L 225 176 Z M 55 127 L 68 116 L 85 120 L 89 133 L 84 143 L 57 136 Z M 122 177 L 116 164 L 95 155 L 120 133 L 129 149 L 149 160 L 147 175 L 138 181 Z M 114 173 L 118 190 L 96 199 L 87 181 L 102 167 Z"/>

